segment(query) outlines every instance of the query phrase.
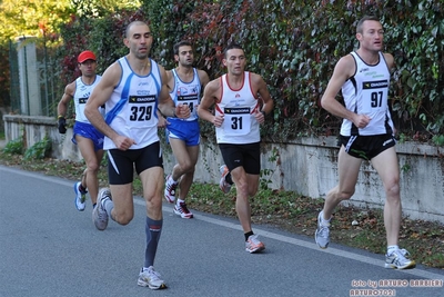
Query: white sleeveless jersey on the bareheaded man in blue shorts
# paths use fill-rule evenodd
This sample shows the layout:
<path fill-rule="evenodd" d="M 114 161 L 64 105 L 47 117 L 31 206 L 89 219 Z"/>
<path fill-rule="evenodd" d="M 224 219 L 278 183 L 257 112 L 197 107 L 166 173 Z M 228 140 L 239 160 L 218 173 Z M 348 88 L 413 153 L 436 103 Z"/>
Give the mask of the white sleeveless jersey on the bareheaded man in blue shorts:
<path fill-rule="evenodd" d="M 170 92 L 171 99 L 173 99 L 174 105 L 178 106 L 180 103 L 188 105 L 191 110 L 191 115 L 185 120 L 198 120 L 198 108 L 196 106 L 201 101 L 201 80 L 199 79 L 198 70 L 193 68 L 193 80 L 190 82 L 183 82 L 175 69 L 172 70 L 174 77 L 174 89 Z M 168 120 L 172 120 L 176 118 L 169 118 Z"/>

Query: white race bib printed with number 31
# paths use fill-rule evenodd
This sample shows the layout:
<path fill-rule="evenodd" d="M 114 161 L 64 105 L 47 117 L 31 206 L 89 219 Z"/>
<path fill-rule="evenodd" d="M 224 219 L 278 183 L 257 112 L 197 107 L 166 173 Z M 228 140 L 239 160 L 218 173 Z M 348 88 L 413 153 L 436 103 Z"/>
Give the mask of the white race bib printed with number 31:
<path fill-rule="evenodd" d="M 240 136 L 250 132 L 251 115 L 249 107 L 224 108 L 223 131 L 225 135 Z"/>

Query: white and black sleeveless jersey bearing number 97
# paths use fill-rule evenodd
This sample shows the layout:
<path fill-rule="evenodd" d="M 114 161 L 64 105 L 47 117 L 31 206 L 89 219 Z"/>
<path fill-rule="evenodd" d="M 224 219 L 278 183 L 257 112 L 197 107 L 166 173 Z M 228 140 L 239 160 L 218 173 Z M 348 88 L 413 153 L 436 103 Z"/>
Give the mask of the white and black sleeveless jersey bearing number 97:
<path fill-rule="evenodd" d="M 342 136 L 373 136 L 393 133 L 393 121 L 389 110 L 390 70 L 384 56 L 380 52 L 376 65 L 365 63 L 356 52 L 351 52 L 356 63 L 356 72 L 344 86 L 342 95 L 346 109 L 359 115 L 367 115 L 367 127 L 359 129 L 352 121 L 344 119 Z"/>

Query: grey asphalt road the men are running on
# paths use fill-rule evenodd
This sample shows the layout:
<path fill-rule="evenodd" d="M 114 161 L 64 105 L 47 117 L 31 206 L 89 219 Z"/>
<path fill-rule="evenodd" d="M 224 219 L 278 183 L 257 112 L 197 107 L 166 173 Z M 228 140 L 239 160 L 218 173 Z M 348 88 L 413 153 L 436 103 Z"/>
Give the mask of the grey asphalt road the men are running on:
<path fill-rule="evenodd" d="M 73 181 L 0 166 L 0 296 L 444 296 L 444 270 L 383 268 L 384 256 L 268 226 L 253 226 L 263 254 L 244 251 L 235 219 L 164 204 L 155 269 L 168 289 L 137 286 L 144 257 L 144 202 L 128 226 L 98 231 Z M 380 295 L 375 295 L 380 294 Z"/>

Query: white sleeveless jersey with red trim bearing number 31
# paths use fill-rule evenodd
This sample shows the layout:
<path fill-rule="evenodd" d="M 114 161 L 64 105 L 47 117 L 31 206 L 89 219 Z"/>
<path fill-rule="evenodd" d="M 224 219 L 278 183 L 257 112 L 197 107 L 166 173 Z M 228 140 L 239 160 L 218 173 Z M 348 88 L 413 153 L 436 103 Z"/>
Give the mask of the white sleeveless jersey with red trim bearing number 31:
<path fill-rule="evenodd" d="M 261 140 L 259 122 L 254 113 L 259 109 L 258 98 L 250 83 L 250 72 L 244 72 L 243 86 L 230 88 L 226 75 L 221 77 L 222 96 L 215 106 L 215 116 L 223 115 L 223 123 L 215 128 L 218 143 L 245 145 Z"/>

